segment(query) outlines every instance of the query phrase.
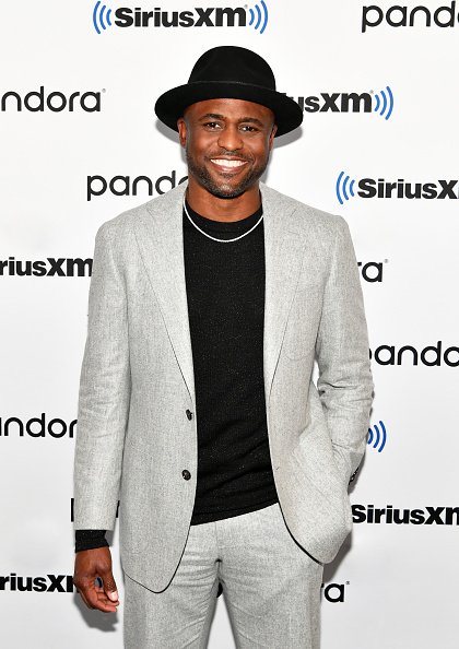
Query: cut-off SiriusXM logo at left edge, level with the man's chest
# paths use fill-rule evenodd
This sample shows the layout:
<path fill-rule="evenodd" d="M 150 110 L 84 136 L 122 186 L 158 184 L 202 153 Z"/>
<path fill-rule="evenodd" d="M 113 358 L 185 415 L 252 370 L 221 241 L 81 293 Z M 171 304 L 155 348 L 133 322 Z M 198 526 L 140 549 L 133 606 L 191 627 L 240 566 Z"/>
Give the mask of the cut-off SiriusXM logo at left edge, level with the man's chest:
<path fill-rule="evenodd" d="M 27 259 L 25 261 L 9 257 L 0 259 L 0 276 L 35 276 L 35 278 L 90 278 L 93 269 L 92 259 Z"/>

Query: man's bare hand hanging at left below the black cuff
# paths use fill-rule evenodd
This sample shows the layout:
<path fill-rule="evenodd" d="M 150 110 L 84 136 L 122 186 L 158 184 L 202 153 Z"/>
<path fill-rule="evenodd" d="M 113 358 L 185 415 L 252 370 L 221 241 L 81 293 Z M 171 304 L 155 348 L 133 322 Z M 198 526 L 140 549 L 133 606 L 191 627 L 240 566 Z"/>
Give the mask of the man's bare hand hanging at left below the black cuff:
<path fill-rule="evenodd" d="M 102 587 L 96 585 L 97 577 L 102 580 Z M 73 583 L 89 609 L 116 612 L 119 601 L 108 547 L 82 550 L 75 554 Z"/>

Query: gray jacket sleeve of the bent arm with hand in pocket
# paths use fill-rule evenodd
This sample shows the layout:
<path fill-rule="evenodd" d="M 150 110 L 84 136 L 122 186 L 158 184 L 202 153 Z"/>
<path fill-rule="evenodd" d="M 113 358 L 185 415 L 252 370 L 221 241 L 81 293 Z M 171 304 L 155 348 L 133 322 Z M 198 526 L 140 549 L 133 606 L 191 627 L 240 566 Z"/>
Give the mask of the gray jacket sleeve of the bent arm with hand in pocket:
<path fill-rule="evenodd" d="M 338 217 L 316 343 L 317 388 L 334 461 L 349 483 L 365 452 L 373 380 L 357 262 L 348 224 Z"/>

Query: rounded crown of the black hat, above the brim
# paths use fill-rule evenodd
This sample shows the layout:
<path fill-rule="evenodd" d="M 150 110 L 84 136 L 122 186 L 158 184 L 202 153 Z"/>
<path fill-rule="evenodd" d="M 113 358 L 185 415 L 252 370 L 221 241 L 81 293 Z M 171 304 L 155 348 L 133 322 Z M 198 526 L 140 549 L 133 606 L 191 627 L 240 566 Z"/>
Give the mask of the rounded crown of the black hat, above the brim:
<path fill-rule="evenodd" d="M 188 83 L 246 83 L 275 91 L 274 74 L 263 58 L 244 47 L 224 45 L 204 52 Z"/>

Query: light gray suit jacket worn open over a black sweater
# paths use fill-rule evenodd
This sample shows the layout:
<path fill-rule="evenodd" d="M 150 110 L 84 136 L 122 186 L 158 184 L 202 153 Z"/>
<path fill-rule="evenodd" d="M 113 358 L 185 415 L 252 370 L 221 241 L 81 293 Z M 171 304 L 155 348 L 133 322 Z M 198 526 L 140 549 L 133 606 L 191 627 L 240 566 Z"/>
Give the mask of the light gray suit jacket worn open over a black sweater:
<path fill-rule="evenodd" d="M 113 529 L 120 499 L 123 569 L 153 591 L 179 563 L 197 481 L 184 191 L 99 228 L 80 385 L 75 529 Z M 293 536 L 330 562 L 351 530 L 348 483 L 365 450 L 373 391 L 360 276 L 340 216 L 263 185 L 261 194 L 273 474 Z"/>

